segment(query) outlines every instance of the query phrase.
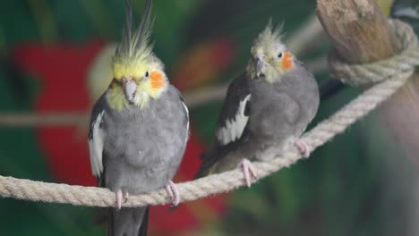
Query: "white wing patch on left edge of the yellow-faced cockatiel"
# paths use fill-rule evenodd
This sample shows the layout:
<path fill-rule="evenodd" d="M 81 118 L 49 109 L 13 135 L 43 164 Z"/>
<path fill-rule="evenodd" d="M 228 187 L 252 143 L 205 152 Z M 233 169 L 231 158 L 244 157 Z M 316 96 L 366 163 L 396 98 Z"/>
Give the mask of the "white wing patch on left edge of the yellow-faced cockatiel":
<path fill-rule="evenodd" d="M 105 114 L 104 111 L 98 114 L 96 121 L 92 123 L 93 135 L 89 139 L 91 173 L 97 177 L 103 172 L 102 152 L 105 133 L 100 129 L 103 114 Z"/>

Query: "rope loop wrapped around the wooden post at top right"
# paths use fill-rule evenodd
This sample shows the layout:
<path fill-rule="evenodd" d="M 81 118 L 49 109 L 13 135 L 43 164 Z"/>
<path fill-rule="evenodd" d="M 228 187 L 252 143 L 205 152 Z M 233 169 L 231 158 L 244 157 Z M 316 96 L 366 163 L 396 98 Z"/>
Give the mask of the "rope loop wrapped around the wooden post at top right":
<path fill-rule="evenodd" d="M 348 64 L 332 51 L 329 55 L 331 77 L 347 85 L 361 86 L 389 80 L 402 73 L 413 73 L 419 65 L 419 45 L 414 30 L 405 22 L 391 19 L 389 27 L 402 46 L 398 55 L 373 63 Z"/>

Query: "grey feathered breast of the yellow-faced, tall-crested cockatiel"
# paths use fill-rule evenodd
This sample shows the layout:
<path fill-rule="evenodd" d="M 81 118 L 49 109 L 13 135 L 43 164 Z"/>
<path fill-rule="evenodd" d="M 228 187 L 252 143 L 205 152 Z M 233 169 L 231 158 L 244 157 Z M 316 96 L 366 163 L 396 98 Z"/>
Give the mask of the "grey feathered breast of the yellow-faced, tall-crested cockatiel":
<path fill-rule="evenodd" d="M 169 85 L 142 109 L 128 106 L 117 112 L 107 104 L 107 95 L 100 100 L 105 107 L 100 124 L 105 186 L 132 194 L 164 187 L 175 175 L 188 138 L 188 114 L 177 89 Z"/>

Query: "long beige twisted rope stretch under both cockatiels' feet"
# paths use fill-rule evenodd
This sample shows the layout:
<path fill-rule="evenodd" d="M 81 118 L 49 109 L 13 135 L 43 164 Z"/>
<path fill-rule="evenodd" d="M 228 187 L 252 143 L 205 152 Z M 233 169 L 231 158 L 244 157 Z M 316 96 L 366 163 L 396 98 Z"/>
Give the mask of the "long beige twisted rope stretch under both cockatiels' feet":
<path fill-rule="evenodd" d="M 398 32 L 398 36 L 406 33 L 409 34 L 408 37 L 413 38 L 411 35 L 413 31 L 409 33 L 409 30 L 406 29 L 408 28 L 394 28 Z M 399 32 L 399 30 L 403 30 L 403 32 Z M 415 47 L 414 49 L 415 53 L 419 54 L 418 48 Z M 398 61 L 398 63 L 398 67 L 409 69 L 406 69 L 405 72 L 399 72 L 390 78 L 387 74 L 388 71 L 383 70 L 381 77 L 389 78 L 389 80 L 385 80 L 366 90 L 361 96 L 345 105 L 328 120 L 319 123 L 312 131 L 304 135 L 303 139 L 312 147 L 312 150 L 345 131 L 351 124 L 363 118 L 365 114 L 369 114 L 374 108 L 391 97 L 413 74 L 415 70 L 414 65 L 419 64 L 419 59 L 416 59 L 414 64 L 401 61 Z M 378 62 L 376 66 L 380 64 L 381 62 Z M 380 70 L 377 69 L 376 72 L 380 72 Z M 301 158 L 300 152 L 293 148 L 283 156 L 269 162 L 254 162 L 253 165 L 258 172 L 258 176 L 264 178 L 284 167 L 295 164 Z M 209 175 L 196 181 L 179 183 L 177 186 L 180 191 L 181 202 L 192 201 L 244 186 L 244 176 L 241 171 L 233 170 Z M 6 198 L 66 203 L 75 206 L 115 206 L 115 193 L 107 189 L 20 180 L 4 176 L 0 176 L 0 195 Z M 166 190 L 157 190 L 148 194 L 132 196 L 124 206 L 162 205 L 167 203 L 170 203 L 170 199 Z"/>

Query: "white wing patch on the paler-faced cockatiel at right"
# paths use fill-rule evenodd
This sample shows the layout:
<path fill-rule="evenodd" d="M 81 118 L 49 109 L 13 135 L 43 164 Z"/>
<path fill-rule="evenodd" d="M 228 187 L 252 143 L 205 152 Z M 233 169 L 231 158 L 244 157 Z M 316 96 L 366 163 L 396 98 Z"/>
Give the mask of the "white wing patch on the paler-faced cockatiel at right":
<path fill-rule="evenodd" d="M 244 97 L 244 100 L 239 104 L 235 118 L 227 120 L 226 126 L 217 131 L 216 136 L 218 142 L 220 142 L 222 145 L 227 145 L 228 143 L 242 137 L 244 127 L 246 126 L 247 121 L 249 121 L 249 117 L 244 115 L 244 110 L 246 109 L 246 104 L 250 97 L 250 94 L 247 97 Z"/>

